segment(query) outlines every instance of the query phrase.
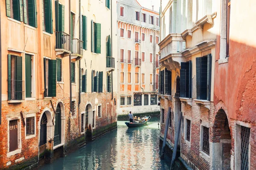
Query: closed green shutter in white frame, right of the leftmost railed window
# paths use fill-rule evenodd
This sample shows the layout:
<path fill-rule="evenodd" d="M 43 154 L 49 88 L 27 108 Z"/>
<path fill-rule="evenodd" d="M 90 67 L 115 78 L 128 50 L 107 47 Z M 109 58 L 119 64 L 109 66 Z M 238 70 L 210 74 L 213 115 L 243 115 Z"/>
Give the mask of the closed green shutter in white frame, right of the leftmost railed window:
<path fill-rule="evenodd" d="M 26 78 L 26 98 L 31 98 L 32 92 L 32 65 L 31 55 L 25 55 L 25 78 Z"/>

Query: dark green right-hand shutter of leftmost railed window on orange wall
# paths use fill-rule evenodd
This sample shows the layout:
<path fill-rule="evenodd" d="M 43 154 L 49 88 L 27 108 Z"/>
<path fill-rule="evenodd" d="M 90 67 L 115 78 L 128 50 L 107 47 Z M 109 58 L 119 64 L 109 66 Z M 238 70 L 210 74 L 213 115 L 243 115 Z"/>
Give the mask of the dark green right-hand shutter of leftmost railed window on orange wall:
<path fill-rule="evenodd" d="M 15 72 L 15 99 L 23 99 L 23 90 L 22 90 L 22 57 L 16 56 L 16 72 Z"/>

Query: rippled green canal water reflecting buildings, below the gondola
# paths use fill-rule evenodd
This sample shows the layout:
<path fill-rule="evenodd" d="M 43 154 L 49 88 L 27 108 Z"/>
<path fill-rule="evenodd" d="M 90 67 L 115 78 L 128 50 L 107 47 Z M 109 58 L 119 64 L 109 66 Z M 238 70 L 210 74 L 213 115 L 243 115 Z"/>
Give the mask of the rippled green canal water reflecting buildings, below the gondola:
<path fill-rule="evenodd" d="M 160 160 L 159 134 L 157 118 L 148 127 L 118 121 L 117 129 L 40 170 L 169 170 L 171 162 Z"/>

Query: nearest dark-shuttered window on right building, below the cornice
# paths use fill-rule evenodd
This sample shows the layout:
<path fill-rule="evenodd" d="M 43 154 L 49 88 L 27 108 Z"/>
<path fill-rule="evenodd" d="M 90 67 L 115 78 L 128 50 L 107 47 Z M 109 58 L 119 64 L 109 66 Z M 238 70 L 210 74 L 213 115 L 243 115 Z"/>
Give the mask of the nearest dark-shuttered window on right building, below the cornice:
<path fill-rule="evenodd" d="M 212 55 L 196 58 L 196 97 L 211 99 Z"/>

